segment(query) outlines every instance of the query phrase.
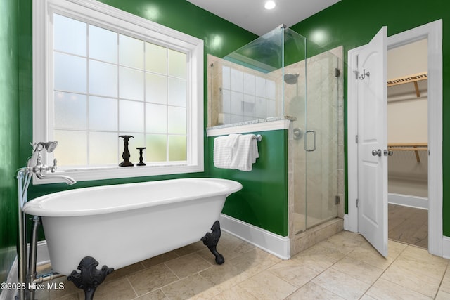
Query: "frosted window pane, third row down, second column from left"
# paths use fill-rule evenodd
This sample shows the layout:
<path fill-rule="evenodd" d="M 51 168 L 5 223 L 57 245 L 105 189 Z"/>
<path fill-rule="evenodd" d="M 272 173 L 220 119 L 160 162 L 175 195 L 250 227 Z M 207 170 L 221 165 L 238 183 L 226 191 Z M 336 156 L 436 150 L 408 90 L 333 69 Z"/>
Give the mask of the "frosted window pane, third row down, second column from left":
<path fill-rule="evenodd" d="M 117 131 L 117 99 L 89 97 L 89 128 Z"/>

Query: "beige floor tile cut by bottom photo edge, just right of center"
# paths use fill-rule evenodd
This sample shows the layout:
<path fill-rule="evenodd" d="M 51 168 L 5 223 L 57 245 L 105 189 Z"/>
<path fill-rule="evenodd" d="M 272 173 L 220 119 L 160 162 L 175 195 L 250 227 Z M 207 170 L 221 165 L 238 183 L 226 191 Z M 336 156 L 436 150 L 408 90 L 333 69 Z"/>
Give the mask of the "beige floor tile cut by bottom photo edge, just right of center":
<path fill-rule="evenodd" d="M 257 299 L 268 300 L 285 299 L 297 289 L 297 287 L 290 285 L 267 270 L 241 282 L 239 287 L 242 287 Z"/>

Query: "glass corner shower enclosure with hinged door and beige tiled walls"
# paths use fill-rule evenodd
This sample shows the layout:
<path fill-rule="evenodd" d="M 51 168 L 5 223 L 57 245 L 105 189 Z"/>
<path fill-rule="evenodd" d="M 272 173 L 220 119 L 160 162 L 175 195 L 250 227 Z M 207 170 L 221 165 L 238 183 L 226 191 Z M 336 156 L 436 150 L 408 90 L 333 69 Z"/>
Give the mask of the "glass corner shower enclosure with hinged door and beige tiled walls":
<path fill-rule="evenodd" d="M 343 216 L 342 47 L 325 51 L 278 27 L 211 58 L 208 126 L 290 119 L 289 232 Z"/>

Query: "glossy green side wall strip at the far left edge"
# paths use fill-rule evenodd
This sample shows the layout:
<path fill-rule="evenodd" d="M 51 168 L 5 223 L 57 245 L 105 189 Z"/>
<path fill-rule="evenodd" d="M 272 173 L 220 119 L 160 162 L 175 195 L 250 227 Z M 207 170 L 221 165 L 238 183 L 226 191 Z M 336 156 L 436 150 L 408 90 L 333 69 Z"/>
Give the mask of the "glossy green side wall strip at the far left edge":
<path fill-rule="evenodd" d="M 18 4 L 0 1 L 0 282 L 15 258 L 19 156 Z M 1 290 L 0 290 L 1 293 Z"/>

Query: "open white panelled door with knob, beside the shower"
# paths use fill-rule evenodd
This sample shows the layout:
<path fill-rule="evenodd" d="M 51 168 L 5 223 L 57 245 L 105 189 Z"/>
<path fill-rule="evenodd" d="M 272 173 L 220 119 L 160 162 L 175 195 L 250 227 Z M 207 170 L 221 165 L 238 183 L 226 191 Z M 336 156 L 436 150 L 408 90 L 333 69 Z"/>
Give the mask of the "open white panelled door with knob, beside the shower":
<path fill-rule="evenodd" d="M 358 55 L 359 232 L 387 256 L 387 27 Z"/>

